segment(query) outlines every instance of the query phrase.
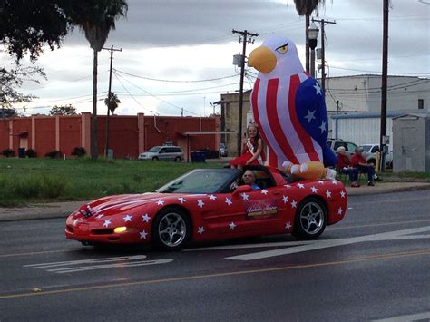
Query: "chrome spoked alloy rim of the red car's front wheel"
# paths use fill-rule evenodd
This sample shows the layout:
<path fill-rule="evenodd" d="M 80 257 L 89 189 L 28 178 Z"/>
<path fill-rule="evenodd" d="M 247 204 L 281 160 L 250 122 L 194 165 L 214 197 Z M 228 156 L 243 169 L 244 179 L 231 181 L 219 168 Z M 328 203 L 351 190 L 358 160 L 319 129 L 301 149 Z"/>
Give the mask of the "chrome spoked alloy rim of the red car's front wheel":
<path fill-rule="evenodd" d="M 158 225 L 158 236 L 169 248 L 180 245 L 187 236 L 187 225 L 181 214 L 174 211 L 164 214 Z"/>

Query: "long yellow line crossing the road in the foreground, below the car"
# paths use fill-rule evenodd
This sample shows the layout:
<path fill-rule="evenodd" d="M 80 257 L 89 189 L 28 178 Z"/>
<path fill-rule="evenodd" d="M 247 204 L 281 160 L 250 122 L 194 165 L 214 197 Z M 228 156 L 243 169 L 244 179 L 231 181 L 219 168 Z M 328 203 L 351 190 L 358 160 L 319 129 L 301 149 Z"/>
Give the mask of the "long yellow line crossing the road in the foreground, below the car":
<path fill-rule="evenodd" d="M 279 272 L 279 271 L 286 271 L 286 270 L 292 270 L 292 269 L 320 268 L 320 267 L 343 265 L 343 264 L 349 264 L 349 263 L 355 263 L 355 262 L 372 261 L 372 260 L 380 260 L 380 259 L 400 259 L 405 257 L 422 256 L 422 255 L 430 255 L 430 249 L 398 252 L 398 253 L 390 253 L 390 254 L 379 254 L 379 255 L 366 256 L 363 258 L 357 258 L 357 259 L 343 259 L 338 261 L 329 261 L 329 262 L 306 264 L 306 265 L 285 266 L 285 267 L 279 267 L 279 268 L 249 269 L 249 270 L 230 271 L 230 272 L 217 273 L 217 274 L 185 276 L 185 277 L 178 277 L 178 278 L 149 279 L 149 280 L 142 280 L 142 281 L 135 281 L 135 282 L 103 284 L 98 286 L 82 287 L 82 288 L 63 288 L 63 289 L 46 290 L 46 291 L 38 290 L 38 291 L 27 292 L 27 293 L 0 295 L 0 299 L 27 298 L 27 297 L 34 297 L 34 296 L 40 296 L 40 295 L 62 294 L 62 293 L 78 292 L 78 291 L 85 291 L 85 290 L 97 290 L 97 289 L 104 289 L 104 288 L 124 288 L 124 287 L 133 287 L 133 286 L 141 286 L 141 285 L 178 282 L 178 281 L 184 281 L 184 280 L 196 280 L 201 278 L 222 278 L 222 277 L 229 277 L 229 276 L 236 276 L 236 275 L 271 273 L 271 272 Z"/>

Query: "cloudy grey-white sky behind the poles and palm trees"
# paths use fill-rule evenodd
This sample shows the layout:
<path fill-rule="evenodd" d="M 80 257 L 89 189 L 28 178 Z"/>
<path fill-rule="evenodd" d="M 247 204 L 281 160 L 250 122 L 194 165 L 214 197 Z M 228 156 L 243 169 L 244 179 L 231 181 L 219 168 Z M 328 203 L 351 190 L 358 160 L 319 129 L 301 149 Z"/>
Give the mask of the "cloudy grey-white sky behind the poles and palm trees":
<path fill-rule="evenodd" d="M 328 76 L 381 73 L 382 0 L 327 0 L 318 19 L 326 26 Z M 259 34 L 247 54 L 270 34 L 285 34 L 298 46 L 304 63 L 305 19 L 292 0 L 129 0 L 126 19 L 117 22 L 105 47 L 114 53 L 112 91 L 121 105 L 118 114 L 199 116 L 219 112 L 211 102 L 220 93 L 239 90 L 239 69 L 232 64 L 241 52 L 239 35 Z M 320 44 L 318 40 L 318 46 Z M 430 78 L 430 0 L 391 0 L 389 19 L 390 75 Z M 0 53 L 2 64 L 11 60 Z M 110 53 L 99 54 L 98 113 L 106 108 Z M 93 52 L 78 30 L 63 46 L 47 50 L 37 64 L 48 80 L 25 83 L 22 91 L 39 98 L 17 105 L 26 115 L 47 113 L 55 104 L 73 104 L 78 112 L 92 111 Z M 317 62 L 318 64 L 318 62 Z M 256 71 L 249 69 L 245 89 Z"/>

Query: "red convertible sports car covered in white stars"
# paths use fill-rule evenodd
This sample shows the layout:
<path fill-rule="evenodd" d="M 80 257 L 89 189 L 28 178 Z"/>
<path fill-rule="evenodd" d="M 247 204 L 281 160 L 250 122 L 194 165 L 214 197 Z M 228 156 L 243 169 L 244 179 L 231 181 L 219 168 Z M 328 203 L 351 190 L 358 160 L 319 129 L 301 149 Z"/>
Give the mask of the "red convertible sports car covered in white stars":
<path fill-rule="evenodd" d="M 285 233 L 316 239 L 345 217 L 347 191 L 340 181 L 291 181 L 277 169 L 247 169 L 261 189 L 230 188 L 243 170 L 194 170 L 153 193 L 84 204 L 67 218 L 65 236 L 83 245 L 152 243 L 173 250 L 189 240 Z"/>

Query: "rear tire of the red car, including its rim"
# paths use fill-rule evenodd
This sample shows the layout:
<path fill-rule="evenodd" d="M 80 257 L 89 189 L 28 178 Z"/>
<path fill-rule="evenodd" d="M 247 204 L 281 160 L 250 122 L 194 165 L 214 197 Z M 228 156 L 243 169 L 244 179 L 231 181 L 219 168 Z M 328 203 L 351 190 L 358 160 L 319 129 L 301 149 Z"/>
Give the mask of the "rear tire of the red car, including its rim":
<path fill-rule="evenodd" d="M 298 239 L 316 239 L 327 225 L 327 207 L 318 198 L 300 202 L 294 220 L 293 235 Z"/>

